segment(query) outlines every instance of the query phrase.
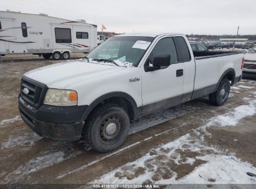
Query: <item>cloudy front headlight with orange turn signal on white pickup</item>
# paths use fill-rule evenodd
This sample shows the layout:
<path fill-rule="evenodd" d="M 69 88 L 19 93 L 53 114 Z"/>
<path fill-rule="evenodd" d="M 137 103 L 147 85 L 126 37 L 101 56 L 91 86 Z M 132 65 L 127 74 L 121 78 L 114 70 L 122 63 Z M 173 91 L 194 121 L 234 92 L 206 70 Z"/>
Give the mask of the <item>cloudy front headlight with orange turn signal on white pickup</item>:
<path fill-rule="evenodd" d="M 77 92 L 72 90 L 48 89 L 45 94 L 44 104 L 53 106 L 76 106 Z"/>

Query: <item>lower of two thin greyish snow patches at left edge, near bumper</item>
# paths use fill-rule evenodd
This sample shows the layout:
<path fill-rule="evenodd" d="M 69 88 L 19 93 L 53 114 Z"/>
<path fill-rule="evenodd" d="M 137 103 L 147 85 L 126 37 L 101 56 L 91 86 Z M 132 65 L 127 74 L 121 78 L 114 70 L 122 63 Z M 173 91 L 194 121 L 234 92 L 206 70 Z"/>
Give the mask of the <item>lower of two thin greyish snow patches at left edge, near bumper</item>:
<path fill-rule="evenodd" d="M 10 137 L 6 141 L 2 142 L 2 149 L 16 147 L 17 145 L 29 145 L 32 147 L 37 141 L 40 141 L 42 137 L 40 137 L 35 132 L 25 133 L 22 136 L 18 137 Z"/>

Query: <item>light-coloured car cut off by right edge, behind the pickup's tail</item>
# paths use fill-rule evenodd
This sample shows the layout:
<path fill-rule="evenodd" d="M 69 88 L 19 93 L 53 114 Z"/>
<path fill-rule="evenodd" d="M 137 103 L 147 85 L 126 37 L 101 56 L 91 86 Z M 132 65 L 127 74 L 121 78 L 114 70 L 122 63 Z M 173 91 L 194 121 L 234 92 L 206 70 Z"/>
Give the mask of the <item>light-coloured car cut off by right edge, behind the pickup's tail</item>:
<path fill-rule="evenodd" d="M 256 46 L 244 55 L 243 76 L 256 78 Z"/>

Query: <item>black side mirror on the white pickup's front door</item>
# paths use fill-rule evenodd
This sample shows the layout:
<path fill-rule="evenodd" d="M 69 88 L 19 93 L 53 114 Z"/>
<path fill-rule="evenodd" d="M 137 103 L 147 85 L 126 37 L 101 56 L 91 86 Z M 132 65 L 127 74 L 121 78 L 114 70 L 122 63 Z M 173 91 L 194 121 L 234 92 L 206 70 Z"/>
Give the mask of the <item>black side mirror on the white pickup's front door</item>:
<path fill-rule="evenodd" d="M 158 54 L 153 58 L 153 67 L 145 65 L 145 71 L 159 70 L 161 67 L 168 67 L 171 62 L 171 55 L 169 54 Z"/>

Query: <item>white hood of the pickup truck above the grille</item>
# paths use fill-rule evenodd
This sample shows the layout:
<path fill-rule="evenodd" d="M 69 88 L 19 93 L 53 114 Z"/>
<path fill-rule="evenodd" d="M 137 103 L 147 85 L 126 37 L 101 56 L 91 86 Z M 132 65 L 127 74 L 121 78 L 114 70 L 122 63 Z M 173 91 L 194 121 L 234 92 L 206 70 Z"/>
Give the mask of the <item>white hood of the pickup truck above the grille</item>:
<path fill-rule="evenodd" d="M 72 84 L 123 69 L 125 69 L 125 67 L 68 61 L 37 68 L 36 70 L 28 71 L 24 75 L 44 83 L 49 88 L 69 89 Z"/>

